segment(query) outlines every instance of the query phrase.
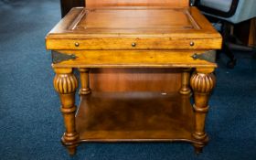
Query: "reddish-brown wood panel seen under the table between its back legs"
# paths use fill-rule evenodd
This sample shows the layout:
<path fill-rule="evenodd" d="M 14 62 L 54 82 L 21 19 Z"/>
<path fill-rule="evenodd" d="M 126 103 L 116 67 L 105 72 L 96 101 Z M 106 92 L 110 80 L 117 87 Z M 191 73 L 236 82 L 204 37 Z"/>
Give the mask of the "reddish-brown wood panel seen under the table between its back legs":
<path fill-rule="evenodd" d="M 91 69 L 90 85 L 93 91 L 160 91 L 177 92 L 180 89 L 180 69 Z"/>

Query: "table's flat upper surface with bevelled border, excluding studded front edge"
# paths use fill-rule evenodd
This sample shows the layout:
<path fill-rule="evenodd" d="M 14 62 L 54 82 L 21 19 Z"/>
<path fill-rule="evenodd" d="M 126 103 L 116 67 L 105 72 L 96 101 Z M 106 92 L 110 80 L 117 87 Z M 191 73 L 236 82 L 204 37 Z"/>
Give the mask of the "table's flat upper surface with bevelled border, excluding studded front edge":
<path fill-rule="evenodd" d="M 197 37 L 220 38 L 196 7 L 73 8 L 48 38 Z"/>

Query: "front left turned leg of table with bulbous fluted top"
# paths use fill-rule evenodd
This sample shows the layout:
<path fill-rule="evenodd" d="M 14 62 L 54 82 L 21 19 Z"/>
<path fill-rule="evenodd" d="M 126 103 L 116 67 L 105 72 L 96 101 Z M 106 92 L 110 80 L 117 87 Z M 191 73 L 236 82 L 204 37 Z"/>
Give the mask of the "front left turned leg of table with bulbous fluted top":
<path fill-rule="evenodd" d="M 54 69 L 54 88 L 59 92 L 61 112 L 63 113 L 66 132 L 62 136 L 62 143 L 67 146 L 69 155 L 76 153 L 79 141 L 79 133 L 76 132 L 75 123 L 75 92 L 78 88 L 78 80 L 72 73 L 72 69 Z"/>

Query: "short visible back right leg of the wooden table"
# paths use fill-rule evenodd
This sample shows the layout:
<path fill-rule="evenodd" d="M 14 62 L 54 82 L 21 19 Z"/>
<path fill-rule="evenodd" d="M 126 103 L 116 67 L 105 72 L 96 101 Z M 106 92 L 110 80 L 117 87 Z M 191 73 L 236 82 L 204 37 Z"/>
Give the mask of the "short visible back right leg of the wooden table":
<path fill-rule="evenodd" d="M 181 89 L 179 90 L 180 94 L 190 94 L 191 90 L 189 87 L 189 80 L 190 80 L 190 70 L 191 69 L 184 69 L 181 73 Z"/>

